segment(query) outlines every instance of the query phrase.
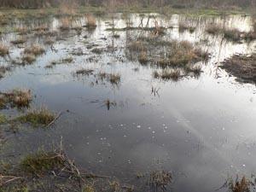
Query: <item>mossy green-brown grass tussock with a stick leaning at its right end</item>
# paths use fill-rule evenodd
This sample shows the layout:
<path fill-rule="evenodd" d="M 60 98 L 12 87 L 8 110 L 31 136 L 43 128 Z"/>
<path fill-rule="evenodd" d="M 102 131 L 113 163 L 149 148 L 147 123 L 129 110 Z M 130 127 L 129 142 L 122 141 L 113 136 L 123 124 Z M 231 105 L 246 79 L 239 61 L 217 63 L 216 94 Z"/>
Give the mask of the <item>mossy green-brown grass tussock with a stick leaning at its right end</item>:
<path fill-rule="evenodd" d="M 33 126 L 38 125 L 49 125 L 55 119 L 55 113 L 51 113 L 46 108 L 40 108 L 38 110 L 32 110 L 29 113 L 26 113 L 23 116 L 18 117 L 16 120 L 19 120 L 21 123 L 29 123 Z"/>

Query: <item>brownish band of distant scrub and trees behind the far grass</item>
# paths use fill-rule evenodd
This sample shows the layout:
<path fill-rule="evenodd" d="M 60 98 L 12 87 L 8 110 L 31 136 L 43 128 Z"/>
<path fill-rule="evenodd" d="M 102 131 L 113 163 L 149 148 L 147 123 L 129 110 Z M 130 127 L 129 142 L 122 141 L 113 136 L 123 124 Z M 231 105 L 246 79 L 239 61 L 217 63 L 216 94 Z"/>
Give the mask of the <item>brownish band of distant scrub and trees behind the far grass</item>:
<path fill-rule="evenodd" d="M 76 3 L 79 5 L 102 5 L 108 1 L 118 3 L 140 4 L 144 7 L 155 5 L 171 5 L 174 8 L 191 8 L 191 7 L 255 7 L 256 0 L 0 0 L 0 7 L 9 8 L 45 8 L 55 7 L 60 3 Z"/>

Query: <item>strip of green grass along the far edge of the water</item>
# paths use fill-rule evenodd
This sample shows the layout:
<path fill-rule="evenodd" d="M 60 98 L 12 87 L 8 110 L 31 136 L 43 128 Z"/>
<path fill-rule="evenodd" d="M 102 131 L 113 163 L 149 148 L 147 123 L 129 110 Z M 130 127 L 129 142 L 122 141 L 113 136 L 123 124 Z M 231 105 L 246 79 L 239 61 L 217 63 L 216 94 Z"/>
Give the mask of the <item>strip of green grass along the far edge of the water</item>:
<path fill-rule="evenodd" d="M 71 10 L 70 10 L 71 11 Z M 79 8 L 73 8 L 73 15 L 82 15 L 85 13 L 91 13 L 94 15 L 106 15 L 108 14 L 108 9 L 102 6 L 81 6 Z M 114 8 L 114 12 L 117 13 L 160 13 L 163 15 L 172 15 L 172 14 L 183 14 L 183 15 L 251 15 L 253 14 L 253 9 L 241 9 L 241 8 L 230 8 L 230 9 L 175 9 L 171 6 L 166 6 L 163 8 L 150 6 L 150 7 L 139 7 L 139 6 L 119 6 Z M 39 12 L 39 14 L 38 14 Z M 72 12 L 72 11 L 71 11 Z M 1 8 L 0 13 L 3 15 L 10 14 L 22 17 L 33 16 L 41 17 L 45 15 L 61 15 L 61 8 L 48 8 L 48 9 L 5 9 Z"/>

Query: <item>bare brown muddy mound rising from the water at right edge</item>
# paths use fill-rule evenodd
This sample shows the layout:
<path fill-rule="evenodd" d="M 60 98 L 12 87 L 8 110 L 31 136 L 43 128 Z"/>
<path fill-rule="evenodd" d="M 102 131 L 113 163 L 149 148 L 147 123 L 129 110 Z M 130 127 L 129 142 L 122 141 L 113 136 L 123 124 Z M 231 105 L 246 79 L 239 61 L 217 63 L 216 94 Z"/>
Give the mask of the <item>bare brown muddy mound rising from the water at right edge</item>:
<path fill-rule="evenodd" d="M 223 62 L 221 68 L 234 75 L 237 81 L 256 83 L 256 53 L 253 55 L 233 55 Z"/>

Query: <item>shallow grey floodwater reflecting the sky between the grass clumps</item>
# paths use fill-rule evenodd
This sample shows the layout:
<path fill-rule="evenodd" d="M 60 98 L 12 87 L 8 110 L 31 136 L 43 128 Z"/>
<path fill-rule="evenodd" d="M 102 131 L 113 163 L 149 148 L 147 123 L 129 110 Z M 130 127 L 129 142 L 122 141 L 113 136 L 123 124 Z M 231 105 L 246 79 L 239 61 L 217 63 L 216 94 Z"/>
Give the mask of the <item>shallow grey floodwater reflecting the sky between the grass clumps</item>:
<path fill-rule="evenodd" d="M 141 19 L 140 15 L 131 15 L 132 25 L 138 26 Z M 120 38 L 112 38 L 112 32 L 106 31 L 111 27 L 111 19 L 97 18 L 95 30 L 83 29 L 80 35 L 74 31 L 62 33 L 65 40 L 56 41 L 52 47 L 45 45 L 46 53 L 34 64 L 14 67 L 0 80 L 1 91 L 31 89 L 35 95 L 32 108 L 46 106 L 55 113 L 69 110 L 50 130 L 26 127 L 9 136 L 10 144 L 3 156 L 21 156 L 42 145 L 58 143 L 62 136 L 67 153 L 79 166 L 138 186 L 144 183 L 137 180 L 137 172 L 162 169 L 172 172 L 174 177 L 168 191 L 183 192 L 215 191 L 228 176 L 255 174 L 256 87 L 240 84 L 218 68 L 220 62 L 231 55 L 255 51 L 255 42 L 234 44 L 205 32 L 206 26 L 212 23 L 225 23 L 227 27 L 248 32 L 250 17 L 172 15 L 157 17 L 157 20 L 161 26 L 172 26 L 164 38 L 188 40 L 212 54 L 207 63 L 199 63 L 203 70 L 199 78 L 186 77 L 177 82 L 154 79 L 152 73 L 156 67 L 141 66 L 125 57 L 129 38 L 141 32 L 116 32 Z M 195 32 L 178 32 L 181 20 L 196 26 Z M 31 20 L 26 27 L 42 22 Z M 46 22 L 52 30 L 58 29 L 57 18 Z M 147 15 L 143 26 L 146 23 Z M 16 20 L 12 25 L 27 24 Z M 84 25 L 84 19 L 76 19 L 73 25 Z M 114 25 L 125 27 L 122 15 L 115 15 Z M 149 26 L 154 26 L 154 20 L 150 20 Z M 83 38 L 84 35 L 88 38 Z M 28 37 L 28 45 L 44 43 L 43 37 L 32 34 Z M 5 44 L 15 38 L 17 33 L 1 37 Z M 117 49 L 96 55 L 87 49 L 90 44 L 97 44 L 99 48 L 113 45 Z M 11 58 L 19 57 L 22 48 L 10 46 Z M 73 55 L 73 63 L 44 68 L 79 48 L 84 55 Z M 89 60 L 90 57 L 93 58 Z M 8 59 L 0 61 L 1 65 L 10 65 Z M 97 83 L 94 76 L 73 74 L 81 68 L 119 73 L 121 82 L 118 85 Z M 152 93 L 152 86 L 159 91 Z M 107 108 L 104 105 L 107 99 L 116 104 Z M 20 112 L 10 109 L 3 113 Z"/>

